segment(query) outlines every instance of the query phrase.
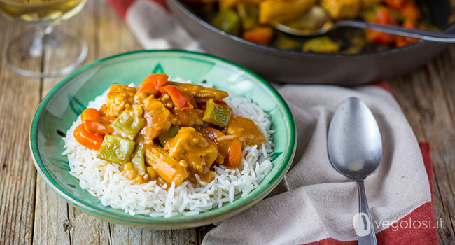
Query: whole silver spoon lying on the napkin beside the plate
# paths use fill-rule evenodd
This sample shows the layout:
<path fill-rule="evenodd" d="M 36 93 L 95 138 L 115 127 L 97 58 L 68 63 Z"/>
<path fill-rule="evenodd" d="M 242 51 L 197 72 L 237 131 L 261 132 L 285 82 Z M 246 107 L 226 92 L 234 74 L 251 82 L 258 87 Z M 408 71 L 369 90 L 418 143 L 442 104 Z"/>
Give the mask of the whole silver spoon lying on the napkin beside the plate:
<path fill-rule="evenodd" d="M 370 225 L 367 235 L 358 233 L 358 244 L 377 244 L 363 180 L 381 162 L 382 140 L 372 112 L 360 99 L 351 97 L 338 106 L 328 128 L 327 147 L 332 166 L 357 182 L 359 217 L 368 218 L 359 220 L 359 231 Z"/>

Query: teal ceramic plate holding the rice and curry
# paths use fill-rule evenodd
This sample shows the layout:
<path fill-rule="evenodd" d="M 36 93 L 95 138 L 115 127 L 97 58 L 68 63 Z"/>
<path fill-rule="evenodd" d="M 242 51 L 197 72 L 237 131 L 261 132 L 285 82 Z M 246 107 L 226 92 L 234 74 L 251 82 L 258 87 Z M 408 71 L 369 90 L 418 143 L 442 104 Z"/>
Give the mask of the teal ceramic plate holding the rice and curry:
<path fill-rule="evenodd" d="M 221 208 L 194 216 L 156 218 L 132 216 L 120 209 L 104 207 L 96 198 L 80 188 L 69 174 L 66 156 L 62 156 L 62 132 L 71 127 L 87 103 L 102 94 L 113 83 L 137 85 L 151 73 L 167 73 L 171 78 L 203 80 L 214 87 L 251 98 L 272 118 L 276 130 L 274 167 L 260 186 L 245 197 Z M 74 207 L 106 221 L 150 229 L 181 229 L 206 225 L 238 214 L 264 198 L 283 179 L 295 153 L 295 125 L 286 102 L 265 80 L 241 66 L 223 59 L 180 50 L 129 52 L 101 59 L 73 72 L 55 86 L 43 99 L 33 118 L 30 149 L 34 164 L 45 183 Z"/>

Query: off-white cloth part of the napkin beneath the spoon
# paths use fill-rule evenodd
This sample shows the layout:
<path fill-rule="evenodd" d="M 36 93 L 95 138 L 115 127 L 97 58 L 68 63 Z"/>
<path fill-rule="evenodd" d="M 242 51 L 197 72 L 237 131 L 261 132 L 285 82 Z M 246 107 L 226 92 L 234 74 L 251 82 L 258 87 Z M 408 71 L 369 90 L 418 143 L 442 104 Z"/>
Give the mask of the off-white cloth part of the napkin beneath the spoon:
<path fill-rule="evenodd" d="M 279 188 L 241 214 L 222 221 L 202 244 L 306 244 L 357 239 L 356 183 L 335 171 L 327 155 L 327 130 L 335 109 L 359 97 L 372 110 L 383 138 L 377 172 L 365 179 L 373 221 L 398 221 L 431 201 L 428 176 L 416 137 L 400 106 L 386 90 L 327 85 L 285 85 L 280 94 L 297 129 L 295 160 Z M 381 226 L 376 232 L 384 230 Z"/>

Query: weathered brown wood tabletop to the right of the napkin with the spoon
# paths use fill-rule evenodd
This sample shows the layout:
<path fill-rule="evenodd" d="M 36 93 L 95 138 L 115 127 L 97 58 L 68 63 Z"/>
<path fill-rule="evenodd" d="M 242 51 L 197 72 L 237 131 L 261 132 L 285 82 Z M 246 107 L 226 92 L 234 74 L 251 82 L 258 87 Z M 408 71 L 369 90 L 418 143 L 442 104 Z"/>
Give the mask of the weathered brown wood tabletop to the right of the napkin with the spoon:
<path fill-rule="evenodd" d="M 432 144 L 435 184 L 433 207 L 435 217 L 444 221 L 438 229 L 440 244 L 454 244 L 455 155 L 454 92 L 455 46 L 423 69 L 393 79 L 391 87 L 409 120 L 417 139 Z M 452 93 L 453 94 L 453 93 Z"/>

